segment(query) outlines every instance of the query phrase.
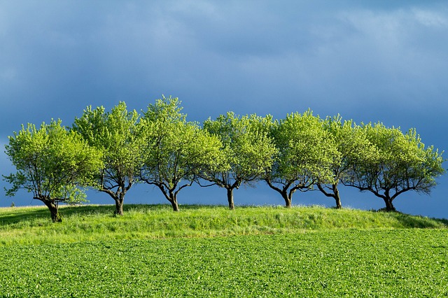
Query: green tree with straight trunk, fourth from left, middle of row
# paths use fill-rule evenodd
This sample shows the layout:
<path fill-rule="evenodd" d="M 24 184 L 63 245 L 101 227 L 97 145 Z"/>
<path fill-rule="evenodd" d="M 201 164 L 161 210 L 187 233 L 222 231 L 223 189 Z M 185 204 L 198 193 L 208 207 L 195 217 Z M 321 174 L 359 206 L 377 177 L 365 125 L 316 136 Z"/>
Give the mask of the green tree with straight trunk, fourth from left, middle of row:
<path fill-rule="evenodd" d="M 230 210 L 235 208 L 233 190 L 241 183 L 249 184 L 260 178 L 272 166 L 276 148 L 265 128 L 269 122 L 272 123 L 270 116 L 239 118 L 232 112 L 204 122 L 204 130 L 218 136 L 223 147 L 221 164 L 214 169 L 204 168 L 200 176 L 227 190 Z"/>

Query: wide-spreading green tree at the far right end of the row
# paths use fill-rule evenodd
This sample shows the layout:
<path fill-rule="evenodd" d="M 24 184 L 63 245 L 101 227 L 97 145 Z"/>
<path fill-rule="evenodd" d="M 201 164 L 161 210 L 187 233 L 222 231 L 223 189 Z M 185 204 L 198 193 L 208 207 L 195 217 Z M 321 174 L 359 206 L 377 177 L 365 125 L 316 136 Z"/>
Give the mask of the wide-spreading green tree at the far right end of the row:
<path fill-rule="evenodd" d="M 386 211 L 395 211 L 393 200 L 414 190 L 429 194 L 441 176 L 442 153 L 421 143 L 415 129 L 403 134 L 400 128 L 388 128 L 382 123 L 363 125 L 367 139 L 376 147 L 375 158 L 360 159 L 353 167 L 345 185 L 372 192 L 384 200 Z"/>

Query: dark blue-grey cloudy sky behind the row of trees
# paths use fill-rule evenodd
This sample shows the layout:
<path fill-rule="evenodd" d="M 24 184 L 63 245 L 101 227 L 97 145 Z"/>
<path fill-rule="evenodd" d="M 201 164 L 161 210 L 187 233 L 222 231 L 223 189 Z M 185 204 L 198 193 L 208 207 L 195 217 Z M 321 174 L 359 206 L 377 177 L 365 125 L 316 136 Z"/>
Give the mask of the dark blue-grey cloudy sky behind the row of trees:
<path fill-rule="evenodd" d="M 125 101 L 140 111 L 165 94 L 179 97 L 188 120 L 227 111 L 283 118 L 311 108 L 415 127 L 423 143 L 446 150 L 447 82 L 447 1 L 0 0 L 2 148 L 22 123 L 71 125 L 89 105 Z M 1 174 L 13 170 L 1 150 Z M 447 176 L 438 182 L 430 196 L 402 194 L 395 206 L 448 218 Z M 370 194 L 341 192 L 343 204 L 383 206 Z M 0 206 L 40 203 L 30 197 L 0 192 Z M 126 200 L 165 203 L 145 185 Z M 207 202 L 225 204 L 225 192 L 179 194 L 180 204 Z M 264 185 L 237 190 L 235 202 L 283 204 Z M 293 203 L 332 205 L 310 192 Z"/>

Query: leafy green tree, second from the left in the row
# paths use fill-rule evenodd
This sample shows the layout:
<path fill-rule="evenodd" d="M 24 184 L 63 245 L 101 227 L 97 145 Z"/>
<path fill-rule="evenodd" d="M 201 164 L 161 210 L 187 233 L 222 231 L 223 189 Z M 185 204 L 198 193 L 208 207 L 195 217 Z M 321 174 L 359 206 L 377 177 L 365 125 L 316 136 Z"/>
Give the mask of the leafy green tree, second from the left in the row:
<path fill-rule="evenodd" d="M 134 184 L 141 166 L 138 120 L 137 111 L 127 111 L 122 101 L 111 112 L 105 112 L 103 106 L 94 110 L 89 106 L 73 124 L 73 130 L 90 146 L 103 152 L 104 167 L 93 186 L 112 197 L 116 215 L 123 215 L 125 194 Z"/>

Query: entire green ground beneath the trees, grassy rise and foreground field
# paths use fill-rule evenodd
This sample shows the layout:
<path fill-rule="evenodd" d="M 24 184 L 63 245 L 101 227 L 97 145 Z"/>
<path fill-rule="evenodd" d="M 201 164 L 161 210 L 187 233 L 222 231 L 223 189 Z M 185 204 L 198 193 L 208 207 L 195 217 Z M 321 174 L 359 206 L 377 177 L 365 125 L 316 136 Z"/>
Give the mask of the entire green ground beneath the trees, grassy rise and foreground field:
<path fill-rule="evenodd" d="M 3 297 L 448 297 L 447 220 L 321 207 L 0 209 Z"/>

